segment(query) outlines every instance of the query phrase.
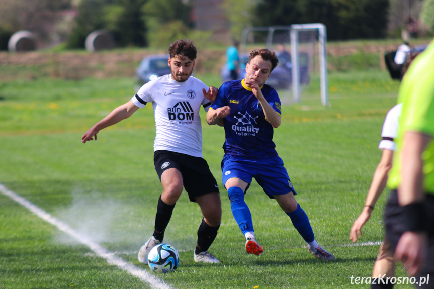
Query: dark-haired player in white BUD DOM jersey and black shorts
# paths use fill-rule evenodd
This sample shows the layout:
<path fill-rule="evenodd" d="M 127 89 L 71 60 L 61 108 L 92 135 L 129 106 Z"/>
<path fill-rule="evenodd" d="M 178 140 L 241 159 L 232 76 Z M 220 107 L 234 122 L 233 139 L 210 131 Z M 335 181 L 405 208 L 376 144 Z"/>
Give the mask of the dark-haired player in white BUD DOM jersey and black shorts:
<path fill-rule="evenodd" d="M 208 252 L 221 222 L 221 201 L 217 181 L 202 156 L 200 107 L 208 111 L 217 88 L 206 86 L 191 76 L 197 55 L 189 40 L 170 44 L 168 65 L 171 73 L 143 85 L 126 104 L 113 110 L 82 136 L 82 142 L 97 140 L 100 130 L 130 117 L 152 103 L 156 125 L 154 164 L 163 186 L 155 216 L 155 230 L 140 248 L 138 259 L 146 264 L 149 251 L 164 238 L 173 208 L 183 187 L 192 202 L 198 203 L 203 219 L 194 251 L 196 262 L 219 263 Z"/>

